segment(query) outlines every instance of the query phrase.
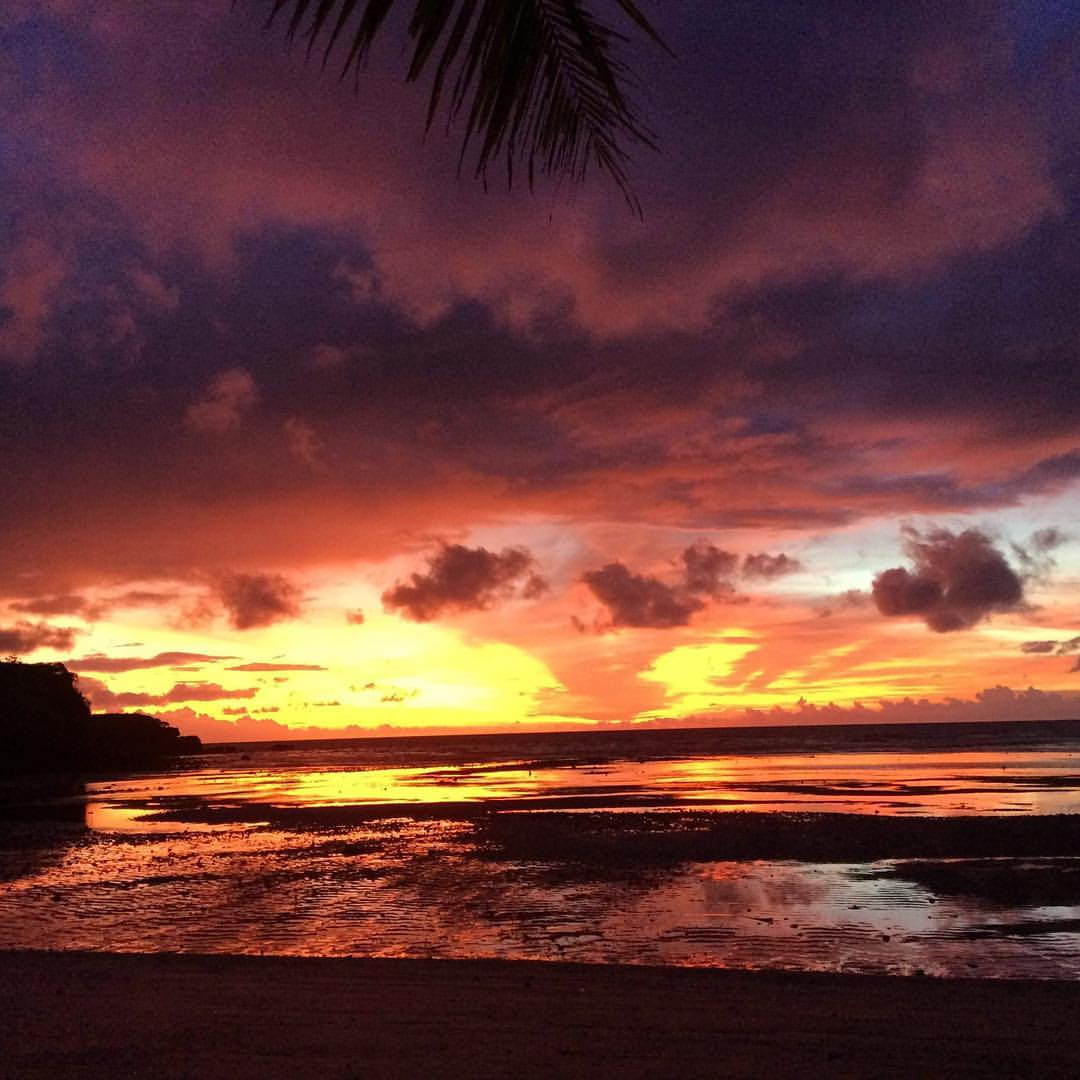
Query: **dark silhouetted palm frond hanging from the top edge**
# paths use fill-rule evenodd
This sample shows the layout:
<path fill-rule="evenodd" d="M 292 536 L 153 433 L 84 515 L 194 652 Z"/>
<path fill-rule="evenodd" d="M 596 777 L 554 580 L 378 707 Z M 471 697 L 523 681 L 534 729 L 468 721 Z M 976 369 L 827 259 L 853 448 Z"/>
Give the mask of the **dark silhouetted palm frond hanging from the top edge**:
<path fill-rule="evenodd" d="M 359 78 L 394 0 L 264 0 L 269 22 L 287 16 L 289 38 L 305 37 L 323 64 L 343 53 L 341 76 Z M 625 41 L 582 0 L 414 0 L 408 23 L 413 55 L 406 79 L 432 72 L 427 126 L 444 111 L 447 127 L 463 125 L 460 164 L 469 154 L 486 181 L 503 160 L 507 181 L 524 166 L 584 179 L 591 165 L 608 173 L 631 208 L 626 144 L 652 147 L 652 137 L 626 98 Z M 658 44 L 634 0 L 612 0 L 636 29 Z"/>

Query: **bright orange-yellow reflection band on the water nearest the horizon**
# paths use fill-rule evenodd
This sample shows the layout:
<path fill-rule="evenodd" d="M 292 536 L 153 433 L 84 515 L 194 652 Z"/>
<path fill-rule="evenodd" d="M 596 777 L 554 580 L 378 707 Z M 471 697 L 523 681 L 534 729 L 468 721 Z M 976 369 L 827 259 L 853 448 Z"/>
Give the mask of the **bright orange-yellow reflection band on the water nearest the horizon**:
<path fill-rule="evenodd" d="M 145 831 L 156 826 L 145 814 L 181 805 L 491 802 L 509 810 L 535 809 L 538 800 L 562 809 L 1066 813 L 1080 810 L 1078 766 L 1076 755 L 1045 751 L 741 755 L 548 767 L 522 761 L 438 768 L 279 764 L 92 784 L 86 819 L 95 829 Z"/>

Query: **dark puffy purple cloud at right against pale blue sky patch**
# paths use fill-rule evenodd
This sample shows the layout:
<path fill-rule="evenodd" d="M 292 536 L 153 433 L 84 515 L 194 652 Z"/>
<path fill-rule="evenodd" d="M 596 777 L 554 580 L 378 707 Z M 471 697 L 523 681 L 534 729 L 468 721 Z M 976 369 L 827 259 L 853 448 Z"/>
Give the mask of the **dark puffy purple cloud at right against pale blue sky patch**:
<path fill-rule="evenodd" d="M 885 616 L 916 615 L 943 634 L 1024 603 L 1020 575 L 977 529 L 935 529 L 923 536 L 908 528 L 904 549 L 913 568 L 894 567 L 874 579 L 874 603 Z"/>

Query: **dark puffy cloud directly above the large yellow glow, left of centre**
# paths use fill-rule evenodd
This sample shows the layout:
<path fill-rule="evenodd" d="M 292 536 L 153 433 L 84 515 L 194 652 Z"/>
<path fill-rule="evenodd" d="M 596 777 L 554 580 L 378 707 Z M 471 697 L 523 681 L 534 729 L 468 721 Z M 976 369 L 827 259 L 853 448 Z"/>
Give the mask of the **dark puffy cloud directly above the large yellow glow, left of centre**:
<path fill-rule="evenodd" d="M 427 573 L 411 573 L 382 594 L 382 605 L 416 622 L 428 622 L 441 611 L 480 611 L 515 593 L 535 599 L 548 589 L 537 575 L 532 555 L 524 548 L 501 553 L 486 548 L 443 544 L 428 559 Z"/>

